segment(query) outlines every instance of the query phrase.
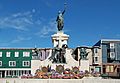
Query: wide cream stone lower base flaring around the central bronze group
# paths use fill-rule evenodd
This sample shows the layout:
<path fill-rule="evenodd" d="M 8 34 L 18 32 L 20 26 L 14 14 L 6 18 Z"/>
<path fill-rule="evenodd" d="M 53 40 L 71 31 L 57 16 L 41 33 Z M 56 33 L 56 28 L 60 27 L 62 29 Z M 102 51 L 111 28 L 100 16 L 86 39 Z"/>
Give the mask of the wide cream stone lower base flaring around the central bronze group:
<path fill-rule="evenodd" d="M 31 74 L 35 75 L 35 72 L 37 69 L 41 69 L 41 67 L 47 67 L 48 65 L 51 66 L 51 69 L 56 69 L 56 65 L 64 65 L 64 68 L 70 68 L 72 69 L 72 67 L 79 67 L 79 63 L 78 61 L 76 61 L 75 59 L 73 59 L 72 57 L 72 49 L 66 49 L 66 63 L 52 63 L 49 60 L 49 57 L 51 56 L 52 50 L 50 51 L 49 56 L 47 57 L 47 59 L 45 59 L 44 61 L 40 61 L 40 60 L 31 60 Z"/>

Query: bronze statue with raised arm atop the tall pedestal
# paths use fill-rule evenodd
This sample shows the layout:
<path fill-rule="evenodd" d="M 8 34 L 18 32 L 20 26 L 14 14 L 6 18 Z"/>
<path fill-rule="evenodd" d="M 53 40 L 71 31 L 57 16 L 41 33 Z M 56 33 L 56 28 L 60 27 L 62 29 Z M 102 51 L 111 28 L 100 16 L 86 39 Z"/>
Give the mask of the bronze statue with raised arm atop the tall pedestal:
<path fill-rule="evenodd" d="M 65 10 L 66 10 L 66 4 L 64 4 L 64 5 L 65 5 L 64 11 L 63 12 L 59 11 L 57 19 L 56 19 L 58 31 L 61 31 L 63 29 L 63 27 L 64 27 L 64 18 L 63 18 L 63 15 L 64 15 Z"/>

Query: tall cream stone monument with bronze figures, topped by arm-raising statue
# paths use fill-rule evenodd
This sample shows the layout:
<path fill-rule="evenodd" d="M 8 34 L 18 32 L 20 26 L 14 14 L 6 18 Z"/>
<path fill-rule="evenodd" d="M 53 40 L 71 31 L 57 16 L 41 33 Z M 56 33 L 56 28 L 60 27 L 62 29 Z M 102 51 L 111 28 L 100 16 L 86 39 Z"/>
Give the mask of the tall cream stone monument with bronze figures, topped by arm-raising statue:
<path fill-rule="evenodd" d="M 40 60 L 32 60 L 33 63 L 32 70 L 39 68 L 41 65 L 42 67 L 50 66 L 51 69 L 58 68 L 58 71 L 63 71 L 65 68 L 72 68 L 72 67 L 79 67 L 79 62 L 75 61 L 72 57 L 72 51 L 68 48 L 68 40 L 69 35 L 64 33 L 64 13 L 66 11 L 66 7 L 63 11 L 58 12 L 58 16 L 56 19 L 57 22 L 57 32 L 51 36 L 53 48 L 50 51 L 50 56 L 46 58 L 44 61 Z M 37 50 L 37 49 L 36 49 Z M 37 51 L 39 55 L 39 50 Z M 35 55 L 35 56 L 38 56 Z M 34 57 L 34 56 L 33 56 Z M 36 63 L 36 65 L 35 65 Z M 83 62 L 84 63 L 84 62 Z M 38 65 L 40 64 L 40 65 Z M 87 64 L 84 64 L 87 65 Z M 86 70 L 86 69 L 85 69 Z M 87 69 L 88 70 L 88 69 Z M 31 72 L 35 74 L 35 71 Z"/>

